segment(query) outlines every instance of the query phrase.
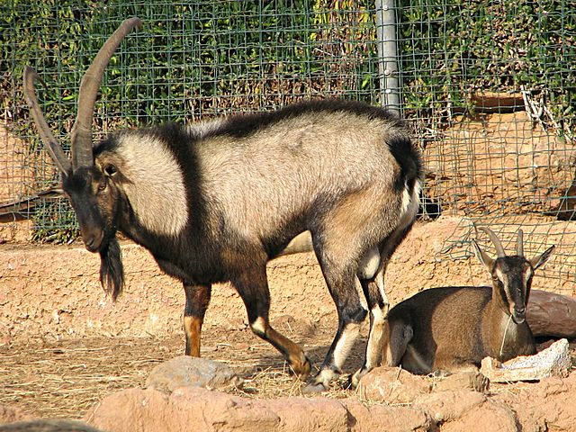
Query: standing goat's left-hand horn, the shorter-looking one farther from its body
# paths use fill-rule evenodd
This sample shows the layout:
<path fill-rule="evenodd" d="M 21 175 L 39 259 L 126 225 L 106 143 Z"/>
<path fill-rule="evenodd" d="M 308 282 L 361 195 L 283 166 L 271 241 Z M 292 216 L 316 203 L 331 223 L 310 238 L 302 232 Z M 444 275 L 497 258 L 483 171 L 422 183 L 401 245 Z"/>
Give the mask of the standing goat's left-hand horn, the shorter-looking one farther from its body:
<path fill-rule="evenodd" d="M 26 102 L 30 107 L 30 112 L 36 128 L 40 132 L 40 138 L 44 141 L 44 145 L 48 149 L 50 157 L 59 170 L 63 174 L 68 175 L 71 170 L 70 161 L 68 160 L 64 150 L 58 143 L 58 139 L 54 137 L 52 131 L 49 128 L 48 122 L 44 119 L 44 114 L 40 110 L 40 105 L 38 103 L 38 98 L 36 97 L 36 92 L 34 91 L 34 84 L 36 81 L 40 81 L 42 85 L 44 82 L 40 79 L 40 76 L 36 73 L 34 69 L 30 66 L 24 67 L 24 96 L 26 97 Z M 44 85 L 46 87 L 46 85 Z"/>

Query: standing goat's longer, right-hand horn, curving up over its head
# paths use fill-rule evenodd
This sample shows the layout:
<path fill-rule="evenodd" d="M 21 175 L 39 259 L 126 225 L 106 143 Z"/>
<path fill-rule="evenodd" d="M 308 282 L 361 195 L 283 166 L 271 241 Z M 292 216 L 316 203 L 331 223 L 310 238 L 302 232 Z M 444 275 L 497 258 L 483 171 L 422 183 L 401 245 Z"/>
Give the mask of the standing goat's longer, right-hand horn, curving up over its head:
<path fill-rule="evenodd" d="M 82 77 L 78 93 L 78 112 L 72 127 L 72 167 L 93 166 L 92 154 L 92 120 L 94 118 L 94 103 L 100 88 L 104 69 L 108 66 L 112 54 L 120 45 L 122 39 L 135 27 L 140 28 L 142 22 L 138 18 L 124 20 L 120 27 L 98 51 L 92 65 L 88 67 Z"/>

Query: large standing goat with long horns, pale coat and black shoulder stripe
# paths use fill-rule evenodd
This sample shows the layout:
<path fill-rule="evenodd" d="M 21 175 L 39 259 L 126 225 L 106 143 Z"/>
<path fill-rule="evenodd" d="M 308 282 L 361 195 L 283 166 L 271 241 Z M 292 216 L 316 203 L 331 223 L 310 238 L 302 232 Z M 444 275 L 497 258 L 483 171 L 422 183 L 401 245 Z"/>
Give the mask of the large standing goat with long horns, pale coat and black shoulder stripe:
<path fill-rule="evenodd" d="M 374 367 L 388 302 L 383 274 L 418 211 L 420 156 L 402 121 L 364 103 L 317 101 L 190 126 L 121 130 L 92 144 L 94 100 L 104 68 L 137 18 L 126 20 L 86 71 L 71 132 L 72 161 L 51 134 L 24 72 L 31 114 L 63 174 L 85 247 L 101 256 L 115 299 L 124 283 L 121 231 L 184 284 L 185 353 L 200 356 L 211 284 L 229 281 L 250 328 L 295 374 L 311 372 L 302 348 L 270 326 L 266 262 L 313 247 L 338 309 L 338 331 L 309 386 L 325 389 L 342 367 L 370 307 L 365 365 Z M 309 232 L 307 237 L 306 231 Z M 296 244 L 295 244 L 296 243 Z M 284 247 L 288 247 L 283 251 Z"/>

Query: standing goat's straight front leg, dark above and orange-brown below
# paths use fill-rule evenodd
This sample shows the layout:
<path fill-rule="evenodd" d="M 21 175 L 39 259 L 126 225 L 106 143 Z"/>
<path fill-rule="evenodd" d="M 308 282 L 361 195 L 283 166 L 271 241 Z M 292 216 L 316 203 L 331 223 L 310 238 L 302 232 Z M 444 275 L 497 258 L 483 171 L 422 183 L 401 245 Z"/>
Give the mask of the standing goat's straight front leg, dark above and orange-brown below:
<path fill-rule="evenodd" d="M 186 356 L 200 356 L 200 336 L 204 314 L 211 298 L 211 285 L 184 284 L 186 305 L 184 306 L 184 333 L 186 335 Z"/>

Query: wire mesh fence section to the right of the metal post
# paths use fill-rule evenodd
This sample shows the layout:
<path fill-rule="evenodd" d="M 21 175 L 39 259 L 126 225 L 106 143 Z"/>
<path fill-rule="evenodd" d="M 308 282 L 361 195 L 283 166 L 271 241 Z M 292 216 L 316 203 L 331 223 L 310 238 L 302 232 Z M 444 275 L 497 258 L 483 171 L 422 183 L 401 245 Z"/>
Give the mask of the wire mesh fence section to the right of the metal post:
<path fill-rule="evenodd" d="M 400 15 L 403 108 L 424 148 L 426 198 L 464 216 L 437 259 L 472 255 L 474 223 L 511 250 L 521 227 L 528 257 L 558 246 L 539 286 L 573 295 L 576 12 L 421 0 Z"/>

